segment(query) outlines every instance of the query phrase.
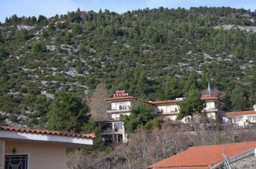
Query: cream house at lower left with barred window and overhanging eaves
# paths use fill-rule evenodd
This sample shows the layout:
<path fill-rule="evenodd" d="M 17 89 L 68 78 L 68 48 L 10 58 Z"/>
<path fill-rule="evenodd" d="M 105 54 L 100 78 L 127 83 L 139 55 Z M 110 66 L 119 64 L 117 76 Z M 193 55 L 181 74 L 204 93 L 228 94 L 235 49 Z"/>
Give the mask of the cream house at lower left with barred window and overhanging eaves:
<path fill-rule="evenodd" d="M 92 134 L 0 126 L 0 169 L 65 169 L 66 151 L 93 145 Z"/>

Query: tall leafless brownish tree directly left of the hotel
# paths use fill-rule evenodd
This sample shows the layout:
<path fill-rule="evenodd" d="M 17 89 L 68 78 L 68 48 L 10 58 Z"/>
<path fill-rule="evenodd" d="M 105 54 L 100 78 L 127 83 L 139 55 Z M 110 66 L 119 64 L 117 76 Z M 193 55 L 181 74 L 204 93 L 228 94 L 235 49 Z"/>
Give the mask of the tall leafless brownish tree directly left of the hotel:
<path fill-rule="evenodd" d="M 99 83 L 93 92 L 89 104 L 91 109 L 90 114 L 94 120 L 100 121 L 110 119 L 110 115 L 106 113 L 110 107 L 110 103 L 105 101 L 109 96 L 110 93 L 105 85 L 103 83 Z"/>

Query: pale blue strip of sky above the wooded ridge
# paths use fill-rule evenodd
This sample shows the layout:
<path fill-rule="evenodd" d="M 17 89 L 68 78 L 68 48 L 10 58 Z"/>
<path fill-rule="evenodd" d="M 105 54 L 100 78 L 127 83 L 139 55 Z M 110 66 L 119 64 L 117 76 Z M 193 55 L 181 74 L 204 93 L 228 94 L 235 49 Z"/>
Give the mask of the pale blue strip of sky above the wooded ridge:
<path fill-rule="evenodd" d="M 232 8 L 245 8 L 254 11 L 256 0 L 0 0 L 0 22 L 13 14 L 21 16 L 35 16 L 40 14 L 52 17 L 56 14 L 67 14 L 67 11 L 93 10 L 115 11 L 122 14 L 143 8 L 190 8 L 198 6 L 230 6 Z"/>

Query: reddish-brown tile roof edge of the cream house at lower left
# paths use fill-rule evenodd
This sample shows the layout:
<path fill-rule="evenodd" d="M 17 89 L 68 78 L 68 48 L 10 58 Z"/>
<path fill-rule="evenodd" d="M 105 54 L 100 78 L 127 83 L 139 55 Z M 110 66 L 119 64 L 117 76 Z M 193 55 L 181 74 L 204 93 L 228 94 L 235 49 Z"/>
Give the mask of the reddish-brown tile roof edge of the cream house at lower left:
<path fill-rule="evenodd" d="M 38 134 L 50 134 L 50 135 L 65 135 L 72 137 L 81 137 L 81 138 L 95 138 L 95 132 L 91 134 L 79 134 L 73 132 L 59 132 L 53 130 L 40 130 L 40 129 L 30 129 L 30 128 L 22 128 L 22 127 L 10 127 L 10 126 L 0 126 L 0 130 L 10 130 L 15 132 L 32 132 Z"/>

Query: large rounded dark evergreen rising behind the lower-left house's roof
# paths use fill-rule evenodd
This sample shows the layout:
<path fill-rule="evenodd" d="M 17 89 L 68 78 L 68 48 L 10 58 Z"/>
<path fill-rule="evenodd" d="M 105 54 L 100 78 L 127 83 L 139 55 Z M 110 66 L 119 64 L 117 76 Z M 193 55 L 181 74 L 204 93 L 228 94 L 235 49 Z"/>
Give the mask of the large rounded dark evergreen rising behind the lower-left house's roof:
<path fill-rule="evenodd" d="M 61 91 L 49 105 L 47 129 L 80 132 L 90 117 L 87 114 L 89 110 L 87 104 L 75 93 Z"/>

